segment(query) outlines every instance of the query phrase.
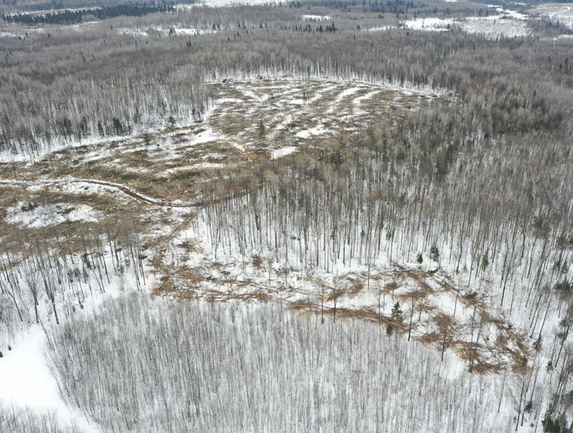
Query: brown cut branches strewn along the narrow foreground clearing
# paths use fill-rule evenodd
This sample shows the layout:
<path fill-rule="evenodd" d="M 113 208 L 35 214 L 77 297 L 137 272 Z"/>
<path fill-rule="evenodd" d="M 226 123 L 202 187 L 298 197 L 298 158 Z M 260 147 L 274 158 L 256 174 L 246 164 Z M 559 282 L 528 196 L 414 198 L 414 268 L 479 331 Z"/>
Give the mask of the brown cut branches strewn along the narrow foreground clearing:
<path fill-rule="evenodd" d="M 192 250 L 196 248 L 194 244 L 180 244 L 180 248 Z M 262 260 L 257 257 L 253 258 L 254 268 L 261 274 L 267 272 Z M 249 302 L 268 302 L 271 299 L 284 299 L 287 301 L 289 308 L 301 314 L 319 315 L 324 318 L 333 318 L 341 320 L 368 320 L 371 323 L 378 323 L 385 327 L 392 324 L 396 333 L 407 333 L 407 323 L 398 323 L 392 318 L 377 313 L 376 307 L 333 307 L 333 303 L 341 302 L 341 299 L 351 299 L 359 296 L 364 292 L 366 274 L 349 273 L 338 277 L 335 283 L 327 283 L 316 277 L 306 277 L 306 281 L 317 288 L 317 293 L 322 290 L 324 302 L 313 296 L 308 299 L 296 299 L 289 301 L 289 296 L 285 298 L 285 292 L 281 289 L 271 287 L 261 287 L 251 279 L 237 281 L 225 277 L 224 266 L 222 264 L 213 264 L 208 266 L 212 270 L 217 270 L 215 277 L 213 272 L 206 268 L 181 269 L 173 273 L 173 278 L 179 289 L 173 291 L 172 283 L 163 285 L 167 290 L 166 294 L 172 294 L 177 299 L 205 299 L 210 302 L 227 302 L 231 300 L 241 300 Z M 280 272 L 279 272 L 280 274 Z M 515 332 L 507 323 L 491 314 L 484 305 L 484 301 L 478 294 L 464 294 L 459 292 L 453 281 L 447 275 L 441 272 L 425 272 L 423 270 L 390 270 L 383 274 L 372 274 L 370 284 L 377 284 L 378 281 L 386 281 L 381 290 L 386 295 L 394 295 L 394 299 L 401 300 L 401 305 L 405 308 L 407 305 L 414 305 L 414 323 L 413 338 L 422 344 L 432 347 L 435 350 L 450 349 L 460 356 L 464 362 L 471 365 L 474 373 L 488 374 L 497 373 L 506 368 L 513 371 L 521 371 L 526 368 L 527 359 L 531 352 L 527 349 L 525 337 Z M 203 287 L 203 283 L 208 283 L 208 287 Z M 214 289 L 218 287 L 220 289 Z M 161 289 L 155 293 L 162 292 Z M 427 301 L 429 296 L 444 292 L 449 296 L 458 296 L 460 305 L 458 311 L 464 305 L 467 308 L 475 308 L 476 323 L 460 323 L 457 318 L 442 312 L 436 305 Z M 424 314 L 420 322 L 418 316 Z M 404 320 L 407 322 L 407 320 Z M 493 326 L 497 329 L 497 340 L 493 344 L 489 343 L 486 337 L 480 338 L 478 342 L 466 341 L 462 339 L 463 335 L 469 336 L 470 326 Z M 508 363 L 508 360 L 510 362 Z"/>

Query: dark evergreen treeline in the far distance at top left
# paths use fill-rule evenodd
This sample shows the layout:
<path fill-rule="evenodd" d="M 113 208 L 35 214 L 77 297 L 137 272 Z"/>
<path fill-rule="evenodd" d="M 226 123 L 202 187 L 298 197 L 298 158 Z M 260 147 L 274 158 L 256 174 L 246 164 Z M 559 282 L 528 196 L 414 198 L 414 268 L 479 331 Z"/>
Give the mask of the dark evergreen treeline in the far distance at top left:
<path fill-rule="evenodd" d="M 106 6 L 104 8 L 87 8 L 79 10 L 62 10 L 58 12 L 48 12 L 46 14 L 25 13 L 25 14 L 2 14 L 2 20 L 9 23 L 21 23 L 27 25 L 45 24 L 77 24 L 84 20 L 85 16 L 90 19 L 108 19 L 116 16 L 144 16 L 154 12 L 175 12 L 173 4 L 145 5 L 145 4 L 124 4 Z"/>

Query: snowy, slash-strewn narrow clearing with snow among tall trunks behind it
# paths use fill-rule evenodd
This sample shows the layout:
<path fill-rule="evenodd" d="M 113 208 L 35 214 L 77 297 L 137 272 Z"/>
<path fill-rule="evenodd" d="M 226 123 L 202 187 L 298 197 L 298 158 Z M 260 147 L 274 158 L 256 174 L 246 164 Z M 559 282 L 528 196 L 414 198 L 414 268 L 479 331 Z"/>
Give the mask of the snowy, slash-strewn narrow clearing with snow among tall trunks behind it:
<path fill-rule="evenodd" d="M 304 252 L 302 244 L 292 242 L 288 250 L 281 248 L 278 251 L 278 257 L 282 259 L 277 262 L 273 251 L 256 249 L 245 252 L 245 247 L 234 243 L 233 239 L 229 240 L 231 244 L 227 246 L 213 244 L 213 228 L 205 225 L 206 220 L 208 217 L 201 215 L 199 221 L 192 224 L 188 231 L 181 232 L 174 242 L 183 244 L 191 240 L 196 246 L 195 250 L 182 255 L 179 262 L 179 266 L 196 270 L 193 285 L 196 297 L 220 301 L 280 300 L 291 303 L 295 309 L 313 314 L 320 314 L 324 305 L 328 310 L 327 315 L 333 314 L 333 307 L 337 307 L 342 317 L 362 317 L 374 322 L 381 320 L 379 313 L 383 321 L 387 320 L 392 316 L 392 307 L 399 302 L 406 316 L 408 310 L 412 314 L 412 336 L 438 350 L 442 342 L 440 335 L 443 336 L 441 320 L 451 318 L 448 319 L 451 320 L 449 332 L 455 337 L 449 338 L 459 344 L 451 350 L 460 356 L 464 356 L 467 347 L 473 344 L 475 326 L 480 321 L 479 317 L 486 314 L 489 318 L 480 325 L 481 338 L 484 342 L 497 344 L 486 344 L 486 347 L 480 348 L 479 362 L 475 362 L 493 371 L 512 368 L 515 362 L 519 362 L 517 354 L 526 353 L 532 344 L 524 335 L 513 331 L 512 324 L 506 323 L 504 312 L 497 312 L 489 305 L 487 294 L 474 298 L 472 290 L 460 286 L 445 272 L 436 272 L 438 264 L 429 257 L 425 257 L 423 266 L 409 263 L 406 257 L 394 257 L 392 261 L 397 260 L 402 264 L 399 269 L 395 268 L 390 250 L 399 249 L 397 240 L 370 265 L 366 261 L 360 262 L 357 257 L 352 260 L 350 256 L 346 257 L 346 264 L 344 258 L 340 257 L 328 265 L 328 255 L 317 253 L 321 257 L 319 261 L 323 264 L 326 261 L 328 269 L 313 267 L 310 271 L 302 266 L 302 262 L 306 261 L 302 257 L 308 253 L 314 261 L 312 247 Z M 233 226 L 245 224 L 245 230 L 249 226 L 248 222 L 234 216 L 229 216 L 227 221 Z M 260 224 L 265 226 L 267 223 L 263 220 Z M 312 246 L 315 241 L 311 240 L 308 244 Z M 285 257 L 287 254 L 289 260 Z M 258 255 L 260 263 L 251 263 L 250 257 L 254 255 Z M 285 269 L 290 270 L 288 274 L 284 272 Z M 219 279 L 227 283 L 221 283 Z M 245 284 L 245 281 L 248 283 Z M 183 284 L 183 290 L 179 293 L 183 297 L 186 293 L 184 287 Z M 337 292 L 339 295 L 334 303 L 333 296 Z M 179 294 L 175 292 L 175 296 Z M 407 326 L 403 332 L 407 333 Z"/>

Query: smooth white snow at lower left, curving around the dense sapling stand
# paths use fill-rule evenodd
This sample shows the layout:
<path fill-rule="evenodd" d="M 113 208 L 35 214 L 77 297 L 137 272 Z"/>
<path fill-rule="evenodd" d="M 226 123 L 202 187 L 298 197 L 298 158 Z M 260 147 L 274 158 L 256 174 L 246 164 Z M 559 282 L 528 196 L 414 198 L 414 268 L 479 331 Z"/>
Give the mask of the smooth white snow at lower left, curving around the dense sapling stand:
<path fill-rule="evenodd" d="M 110 259 L 109 256 L 106 258 L 109 269 L 113 268 Z M 56 309 L 59 311 L 60 324 L 69 320 L 69 315 L 89 316 L 102 301 L 115 299 L 125 292 L 137 291 L 141 285 L 135 282 L 135 276 L 130 270 L 126 270 L 122 275 L 110 275 L 110 278 L 111 281 L 106 284 L 104 292 L 92 290 L 98 283 L 95 282 L 95 274 L 91 274 L 87 276 L 85 285 L 78 279 L 78 284 L 84 286 L 81 296 L 79 293 L 67 293 L 65 298 L 58 296 Z M 153 276 L 150 276 L 149 282 L 151 281 Z M 83 299 L 78 303 L 81 297 Z M 16 333 L 12 329 L 12 335 L 8 338 L 9 344 L 5 344 L 5 330 L 0 331 L 0 344 L 3 345 L 3 356 L 0 357 L 0 406 L 30 408 L 38 414 L 54 414 L 61 426 L 76 425 L 82 433 L 101 433 L 98 425 L 87 417 L 87 414 L 66 404 L 60 395 L 60 386 L 48 367 L 48 357 L 52 349 L 47 338 L 52 328 L 59 325 L 54 322 L 51 304 L 47 303 L 43 292 L 38 292 L 38 300 L 40 323 L 30 323 Z M 24 301 L 22 306 L 27 306 Z"/>

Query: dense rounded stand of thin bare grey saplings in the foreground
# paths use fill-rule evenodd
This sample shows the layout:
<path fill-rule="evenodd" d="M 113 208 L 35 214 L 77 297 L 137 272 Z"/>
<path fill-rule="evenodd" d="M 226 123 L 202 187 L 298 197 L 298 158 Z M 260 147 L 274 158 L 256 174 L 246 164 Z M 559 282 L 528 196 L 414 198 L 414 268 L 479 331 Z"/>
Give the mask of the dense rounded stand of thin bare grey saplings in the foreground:
<path fill-rule="evenodd" d="M 58 375 L 79 378 L 67 387 L 71 398 L 113 432 L 164 433 L 174 424 L 204 433 L 240 424 L 274 433 L 513 428 L 501 378 L 472 377 L 455 358 L 380 330 L 322 325 L 275 303 L 131 296 L 58 331 Z M 106 398 L 91 399 L 93 389 Z"/>

